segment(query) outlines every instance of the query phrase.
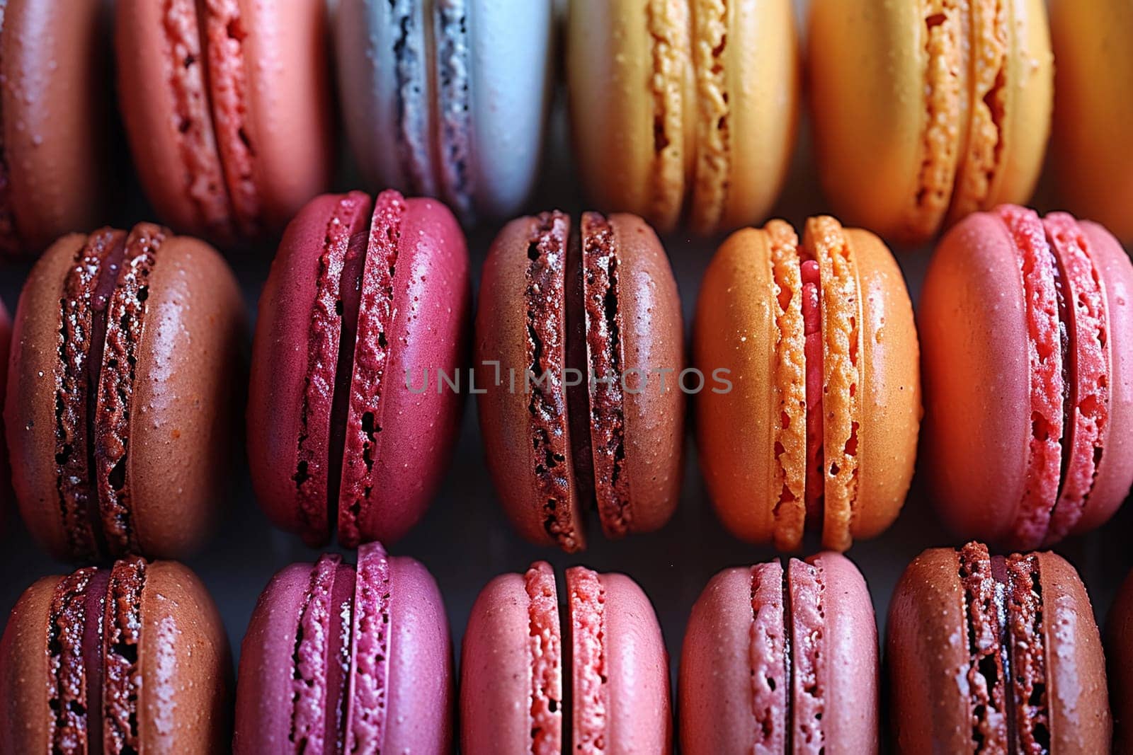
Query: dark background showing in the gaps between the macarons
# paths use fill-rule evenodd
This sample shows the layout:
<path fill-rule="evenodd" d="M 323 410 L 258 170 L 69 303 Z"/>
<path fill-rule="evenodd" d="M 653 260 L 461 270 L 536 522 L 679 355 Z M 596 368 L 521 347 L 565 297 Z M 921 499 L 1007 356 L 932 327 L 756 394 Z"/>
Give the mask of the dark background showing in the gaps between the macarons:
<path fill-rule="evenodd" d="M 803 0 L 796 0 L 803 6 Z M 572 172 L 564 97 L 560 87 L 552 113 L 547 139 L 546 160 L 537 196 L 529 204 L 531 212 L 559 207 L 576 214 L 587 208 Z M 349 165 L 346 140 L 337 189 L 360 186 Z M 119 164 L 125 165 L 125 149 Z M 126 200 L 118 208 L 113 223 L 129 228 L 140 220 L 153 220 L 152 209 L 140 199 L 136 180 L 125 169 L 120 171 Z M 868 181 L 869 177 L 862 177 Z M 1032 205 L 1042 209 L 1057 209 L 1051 199 L 1049 171 Z M 808 215 L 829 212 L 829 206 L 818 189 L 818 179 L 810 151 L 810 136 L 806 117 L 799 135 L 791 174 L 773 216 L 785 217 L 801 230 Z M 468 248 L 476 283 L 487 248 L 500 223 L 488 223 L 468 230 Z M 685 333 L 700 278 L 722 237 L 692 239 L 673 234 L 663 241 L 676 274 L 681 303 L 685 317 Z M 267 276 L 274 246 L 262 249 L 232 251 L 228 259 L 244 290 L 249 321 L 254 323 L 256 302 Z M 928 264 L 930 248 L 894 249 L 904 272 L 915 303 L 921 280 Z M 29 265 L 5 268 L 0 272 L 0 297 L 10 312 L 15 312 L 19 289 Z M 250 349 L 250 343 L 249 343 Z M 973 391 L 980 386 L 972 386 Z M 562 568 L 583 564 L 602 572 L 629 574 L 653 600 L 661 619 L 665 643 L 671 659 L 674 683 L 680 659 L 684 625 L 692 603 L 709 577 L 727 566 L 749 565 L 775 557 L 770 548 L 756 548 L 730 535 L 719 524 L 709 504 L 707 491 L 697 465 L 692 440 L 695 418 L 687 427 L 687 461 L 681 501 L 673 520 L 659 532 L 608 541 L 602 537 L 595 516 L 588 520 L 589 548 L 578 555 L 565 555 L 523 542 L 503 515 L 492 481 L 484 463 L 475 401 L 466 403 L 460 439 L 453 463 L 444 478 L 441 491 L 425 518 L 402 541 L 391 546 L 397 555 L 421 560 L 433 573 L 444 595 L 445 607 L 459 658 L 460 641 L 468 615 L 479 590 L 495 575 L 521 572 L 536 559 L 551 561 L 561 576 Z M 965 418 L 957 417 L 963 423 Z M 242 417 L 239 419 L 242 435 Z M 1119 432 L 1133 428 L 1118 428 Z M 248 439 L 255 443 L 256 439 Z M 203 551 L 186 563 L 207 585 L 224 619 L 232 643 L 233 655 L 239 658 L 240 642 L 259 592 L 271 576 L 292 561 L 314 560 L 320 551 L 306 548 L 297 537 L 271 526 L 256 506 L 248 480 L 242 448 L 236 460 L 232 494 L 225 506 L 223 520 Z M 202 473 L 207 473 L 202 470 Z M 1133 548 L 1127 544 L 1133 529 L 1133 506 L 1125 505 L 1099 531 L 1082 538 L 1072 538 L 1055 550 L 1077 567 L 1093 601 L 1098 620 L 1105 619 L 1114 594 L 1133 566 Z M 866 576 L 878 627 L 884 632 L 889 597 L 897 578 L 909 561 L 925 548 L 957 546 L 960 541 L 948 533 L 936 516 L 928 491 L 918 475 L 896 523 L 875 540 L 854 543 L 847 556 L 858 564 Z M 817 540 L 807 542 L 813 552 Z M 341 550 L 341 549 L 339 549 Z M 347 559 L 353 557 L 349 551 Z M 48 558 L 31 540 L 26 529 L 9 517 L 0 534 L 0 617 L 7 617 L 19 594 L 36 578 L 49 574 L 63 574 L 70 566 Z"/>

